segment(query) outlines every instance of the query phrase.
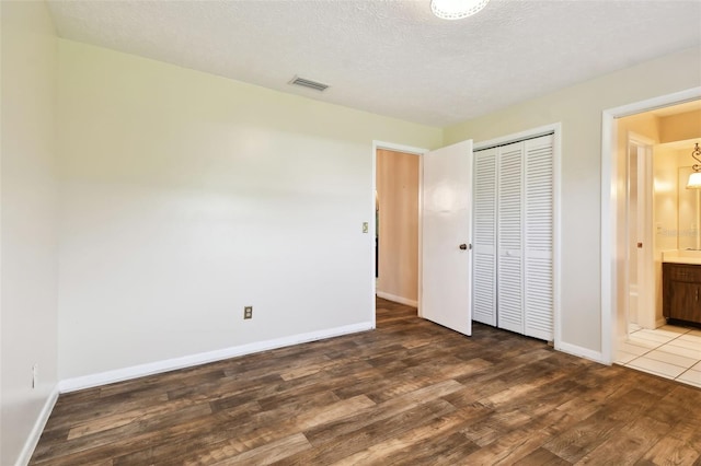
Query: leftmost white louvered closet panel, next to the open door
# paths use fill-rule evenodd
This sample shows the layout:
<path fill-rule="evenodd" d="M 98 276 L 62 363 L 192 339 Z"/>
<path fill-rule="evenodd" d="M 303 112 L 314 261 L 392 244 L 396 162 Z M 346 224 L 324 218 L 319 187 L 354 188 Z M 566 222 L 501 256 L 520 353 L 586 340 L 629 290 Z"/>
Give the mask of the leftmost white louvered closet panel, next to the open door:
<path fill-rule="evenodd" d="M 496 326 L 496 153 L 474 153 L 472 318 Z"/>

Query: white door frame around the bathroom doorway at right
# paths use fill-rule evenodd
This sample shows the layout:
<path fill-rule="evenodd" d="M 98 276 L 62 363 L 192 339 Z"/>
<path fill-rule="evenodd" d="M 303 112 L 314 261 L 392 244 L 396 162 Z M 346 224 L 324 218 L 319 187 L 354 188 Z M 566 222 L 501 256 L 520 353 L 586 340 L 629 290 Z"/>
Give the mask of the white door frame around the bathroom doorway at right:
<path fill-rule="evenodd" d="M 618 186 L 616 118 L 667 107 L 701 98 L 701 86 L 648 98 L 620 107 L 605 109 L 601 114 L 601 360 L 613 361 L 617 338 L 617 308 L 619 302 L 618 265 L 624 258 L 624 245 L 618 244 L 620 229 L 618 202 L 622 195 Z"/>

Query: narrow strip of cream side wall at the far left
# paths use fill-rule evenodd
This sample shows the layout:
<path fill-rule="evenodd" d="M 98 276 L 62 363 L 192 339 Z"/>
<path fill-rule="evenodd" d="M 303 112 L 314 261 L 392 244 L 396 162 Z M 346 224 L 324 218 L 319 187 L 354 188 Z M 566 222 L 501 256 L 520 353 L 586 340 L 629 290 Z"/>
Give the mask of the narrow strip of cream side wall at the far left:
<path fill-rule="evenodd" d="M 43 408 L 55 399 L 57 384 L 57 53 L 44 2 L 2 1 L 0 15 L 0 464 L 11 465 L 20 458 Z M 33 364 L 38 364 L 36 388 Z"/>

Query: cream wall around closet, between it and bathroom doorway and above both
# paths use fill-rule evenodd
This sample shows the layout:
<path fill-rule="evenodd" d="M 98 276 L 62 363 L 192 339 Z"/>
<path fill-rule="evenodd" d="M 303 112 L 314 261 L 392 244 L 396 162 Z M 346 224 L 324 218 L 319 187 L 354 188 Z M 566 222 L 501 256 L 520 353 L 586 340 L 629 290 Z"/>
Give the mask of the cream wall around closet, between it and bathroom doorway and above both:
<path fill-rule="evenodd" d="M 445 143 L 562 123 L 562 341 L 602 350 L 600 305 L 601 113 L 701 84 L 701 49 L 625 68 L 445 130 Z M 619 187 L 620 188 L 620 187 Z"/>

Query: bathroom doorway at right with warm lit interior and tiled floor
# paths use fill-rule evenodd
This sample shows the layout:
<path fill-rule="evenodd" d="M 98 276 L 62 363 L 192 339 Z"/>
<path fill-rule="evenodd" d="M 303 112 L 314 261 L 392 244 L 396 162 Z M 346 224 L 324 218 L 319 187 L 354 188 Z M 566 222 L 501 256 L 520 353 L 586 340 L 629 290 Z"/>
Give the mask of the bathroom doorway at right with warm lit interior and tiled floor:
<path fill-rule="evenodd" d="M 701 140 L 700 98 L 697 88 L 602 118 L 602 357 L 687 383 L 692 368 L 701 376 L 694 350 L 701 333 L 666 325 L 662 269 L 678 255 L 701 255 L 687 251 L 701 206 L 685 208 L 681 174 L 693 162 L 693 141 Z"/>

